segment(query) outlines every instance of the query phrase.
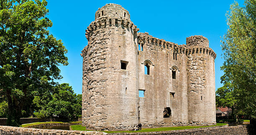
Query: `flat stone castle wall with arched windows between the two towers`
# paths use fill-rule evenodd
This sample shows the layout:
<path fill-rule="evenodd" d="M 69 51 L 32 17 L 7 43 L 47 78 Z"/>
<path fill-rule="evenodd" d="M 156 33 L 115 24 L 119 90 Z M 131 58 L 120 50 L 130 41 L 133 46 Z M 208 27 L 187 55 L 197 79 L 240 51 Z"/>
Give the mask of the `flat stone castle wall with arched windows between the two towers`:
<path fill-rule="evenodd" d="M 187 125 L 187 56 L 177 44 L 146 32 L 139 33 L 138 39 L 143 46 L 143 51 L 138 51 L 138 83 L 139 89 L 145 90 L 144 98 L 139 98 L 139 122 L 148 127 Z M 144 74 L 147 61 L 152 63 L 149 75 Z M 177 69 L 176 79 L 172 79 L 172 69 Z M 169 118 L 163 117 L 166 107 L 171 109 Z"/>

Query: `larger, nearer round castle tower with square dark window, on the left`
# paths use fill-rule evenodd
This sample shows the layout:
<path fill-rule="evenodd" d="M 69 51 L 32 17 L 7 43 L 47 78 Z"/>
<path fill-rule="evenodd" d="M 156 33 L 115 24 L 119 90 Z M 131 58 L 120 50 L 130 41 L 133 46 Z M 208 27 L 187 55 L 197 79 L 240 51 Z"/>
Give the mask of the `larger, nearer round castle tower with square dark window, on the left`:
<path fill-rule="evenodd" d="M 127 10 L 107 4 L 86 30 L 82 125 L 130 130 L 138 124 L 137 27 Z"/>

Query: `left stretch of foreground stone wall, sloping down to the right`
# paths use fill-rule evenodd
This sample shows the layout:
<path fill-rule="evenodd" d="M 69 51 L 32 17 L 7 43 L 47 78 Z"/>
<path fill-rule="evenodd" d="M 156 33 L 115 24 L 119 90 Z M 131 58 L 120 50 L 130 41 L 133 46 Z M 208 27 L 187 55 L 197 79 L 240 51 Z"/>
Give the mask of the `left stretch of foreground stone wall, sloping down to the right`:
<path fill-rule="evenodd" d="M 97 131 L 77 131 L 77 130 L 48 130 L 37 128 L 21 128 L 0 126 L 0 135 L 106 135 Z"/>

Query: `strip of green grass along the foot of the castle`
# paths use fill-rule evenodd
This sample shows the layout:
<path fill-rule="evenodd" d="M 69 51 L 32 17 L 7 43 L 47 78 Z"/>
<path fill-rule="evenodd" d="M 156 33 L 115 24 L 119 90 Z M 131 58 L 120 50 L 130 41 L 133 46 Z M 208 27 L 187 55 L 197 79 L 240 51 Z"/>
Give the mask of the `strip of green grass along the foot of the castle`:
<path fill-rule="evenodd" d="M 217 123 L 216 125 L 210 125 L 210 126 L 180 126 L 180 127 L 166 127 L 166 128 L 142 128 L 142 130 L 137 130 L 137 131 L 102 131 L 102 132 L 105 132 L 105 133 L 156 132 L 156 131 L 182 130 L 182 129 L 192 129 L 192 128 L 205 128 L 205 127 L 213 127 L 213 126 L 220 126 L 220 125 L 226 125 L 226 124 L 225 123 Z M 70 128 L 72 130 L 91 131 L 91 130 L 87 130 L 86 127 L 83 127 L 82 125 L 71 125 Z"/>

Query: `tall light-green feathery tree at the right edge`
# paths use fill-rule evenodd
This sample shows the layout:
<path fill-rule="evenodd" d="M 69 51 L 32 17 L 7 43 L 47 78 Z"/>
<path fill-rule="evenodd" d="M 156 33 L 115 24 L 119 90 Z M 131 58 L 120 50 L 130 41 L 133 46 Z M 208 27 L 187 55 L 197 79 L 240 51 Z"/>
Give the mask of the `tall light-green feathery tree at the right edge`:
<path fill-rule="evenodd" d="M 218 106 L 233 104 L 234 113 L 256 118 L 256 1 L 245 0 L 244 5 L 235 2 L 227 13 L 228 31 L 221 46 L 224 86 L 218 89 L 216 100 Z"/>

